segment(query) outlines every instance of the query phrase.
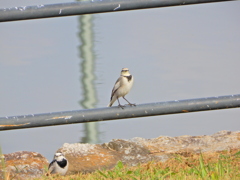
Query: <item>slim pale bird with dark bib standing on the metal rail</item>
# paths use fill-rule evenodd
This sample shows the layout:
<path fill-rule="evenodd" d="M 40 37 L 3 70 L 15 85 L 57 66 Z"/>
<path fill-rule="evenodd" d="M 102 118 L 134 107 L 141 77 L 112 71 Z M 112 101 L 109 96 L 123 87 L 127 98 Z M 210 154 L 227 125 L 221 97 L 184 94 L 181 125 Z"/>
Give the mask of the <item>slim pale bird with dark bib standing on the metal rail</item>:
<path fill-rule="evenodd" d="M 123 97 L 130 106 L 136 106 L 136 104 L 130 103 L 125 96 L 129 93 L 133 85 L 133 76 L 129 73 L 128 68 L 122 68 L 121 75 L 117 79 L 110 98 L 110 103 L 108 107 L 111 107 L 113 103 L 118 100 L 118 106 L 123 109 L 124 105 L 121 105 L 119 102 L 119 98 Z"/>

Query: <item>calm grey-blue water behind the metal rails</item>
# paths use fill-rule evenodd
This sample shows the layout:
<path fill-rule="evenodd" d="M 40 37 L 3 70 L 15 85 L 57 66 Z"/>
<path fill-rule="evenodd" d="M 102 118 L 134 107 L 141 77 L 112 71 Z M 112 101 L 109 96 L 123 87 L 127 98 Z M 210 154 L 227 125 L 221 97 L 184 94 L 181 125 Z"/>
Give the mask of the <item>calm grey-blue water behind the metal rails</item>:
<path fill-rule="evenodd" d="M 71 1 L 51 1 L 60 2 Z M 0 1 L 0 8 L 48 3 Z M 126 98 L 137 104 L 239 94 L 239 17 L 240 2 L 233 1 L 0 23 L 0 116 L 105 107 L 123 67 L 135 77 Z M 87 34 L 80 33 L 84 27 Z M 92 102 L 84 104 L 87 96 Z M 229 109 L 2 131 L 0 146 L 3 153 L 36 151 L 51 160 L 63 143 L 91 135 L 88 142 L 103 143 L 236 131 L 239 114 Z"/>

